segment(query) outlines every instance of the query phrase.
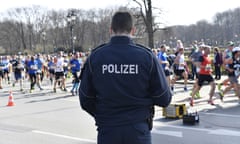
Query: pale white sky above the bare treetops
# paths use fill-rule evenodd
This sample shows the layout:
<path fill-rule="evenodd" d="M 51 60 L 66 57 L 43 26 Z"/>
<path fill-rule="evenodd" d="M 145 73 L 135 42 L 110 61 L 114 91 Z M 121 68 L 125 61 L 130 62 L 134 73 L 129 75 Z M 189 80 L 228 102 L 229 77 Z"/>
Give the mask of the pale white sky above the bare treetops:
<path fill-rule="evenodd" d="M 48 9 L 93 9 L 132 5 L 131 0 L 6 0 L 0 4 L 0 12 L 10 8 L 30 7 L 40 5 Z M 139 0 L 141 1 L 141 0 Z M 164 26 L 190 25 L 200 20 L 212 22 L 218 12 L 233 10 L 240 7 L 238 0 L 152 0 L 153 7 L 160 8 L 162 14 L 159 19 Z"/>

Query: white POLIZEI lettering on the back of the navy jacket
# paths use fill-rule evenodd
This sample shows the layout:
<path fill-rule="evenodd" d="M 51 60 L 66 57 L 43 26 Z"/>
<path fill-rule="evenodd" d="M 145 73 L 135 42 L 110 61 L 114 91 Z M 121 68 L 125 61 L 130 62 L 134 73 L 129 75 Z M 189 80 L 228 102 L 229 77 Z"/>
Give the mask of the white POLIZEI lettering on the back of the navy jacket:
<path fill-rule="evenodd" d="M 137 64 L 104 64 L 102 74 L 138 74 Z"/>

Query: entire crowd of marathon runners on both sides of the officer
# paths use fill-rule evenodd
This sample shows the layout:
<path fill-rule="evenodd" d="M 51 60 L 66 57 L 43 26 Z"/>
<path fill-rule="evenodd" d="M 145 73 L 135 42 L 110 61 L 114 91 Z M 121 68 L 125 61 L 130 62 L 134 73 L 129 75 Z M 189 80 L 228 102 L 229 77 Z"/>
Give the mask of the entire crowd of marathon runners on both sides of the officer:
<path fill-rule="evenodd" d="M 153 49 L 153 52 L 164 69 L 168 85 L 172 91 L 174 91 L 175 82 L 179 79 L 184 80 L 184 91 L 190 90 L 188 81 L 195 80 L 189 100 L 190 105 L 193 106 L 194 99 L 201 98 L 200 89 L 206 83 L 211 86 L 209 104 L 214 105 L 212 97 L 215 93 L 218 93 L 223 101 L 224 95 L 231 89 L 234 89 L 240 101 L 238 83 L 240 69 L 239 49 L 239 47 L 234 46 L 232 41 L 227 43 L 227 49 L 223 52 L 218 47 L 210 47 L 204 43 L 194 41 L 190 54 L 186 55 L 183 43 L 178 40 L 175 51 L 169 52 L 168 46 L 161 45 L 160 48 Z M 55 55 L 1 56 L 0 89 L 4 88 L 3 80 L 5 80 L 5 83 L 12 84 L 12 86 L 19 83 L 20 90 L 23 91 L 23 80 L 28 79 L 30 81 L 29 92 L 31 93 L 36 86 L 43 90 L 41 83 L 44 78 L 47 78 L 54 92 L 57 91 L 57 87 L 67 91 L 66 77 L 70 74 L 73 78 L 70 92 L 72 95 L 76 95 L 80 84 L 79 75 L 83 62 L 83 53 L 80 52 L 74 55 L 68 55 L 61 51 Z M 222 69 L 226 71 L 228 78 L 216 85 L 216 80 L 221 79 Z M 11 73 L 14 74 L 12 78 Z"/>

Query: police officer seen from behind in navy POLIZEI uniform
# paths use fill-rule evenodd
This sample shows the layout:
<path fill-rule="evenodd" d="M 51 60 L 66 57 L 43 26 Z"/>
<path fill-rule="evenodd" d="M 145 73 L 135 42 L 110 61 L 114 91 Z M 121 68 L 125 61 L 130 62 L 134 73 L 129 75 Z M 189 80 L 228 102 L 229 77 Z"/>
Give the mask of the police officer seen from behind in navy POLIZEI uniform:
<path fill-rule="evenodd" d="M 98 144 L 151 144 L 152 108 L 171 101 L 161 65 L 133 32 L 130 13 L 116 12 L 110 42 L 92 51 L 80 75 L 80 104 L 96 121 Z"/>

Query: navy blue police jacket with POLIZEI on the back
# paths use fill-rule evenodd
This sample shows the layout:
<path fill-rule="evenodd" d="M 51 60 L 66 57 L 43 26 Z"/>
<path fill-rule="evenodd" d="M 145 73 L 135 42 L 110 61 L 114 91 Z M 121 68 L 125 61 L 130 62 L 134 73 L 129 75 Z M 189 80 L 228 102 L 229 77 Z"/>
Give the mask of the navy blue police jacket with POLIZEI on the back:
<path fill-rule="evenodd" d="M 82 69 L 80 105 L 97 126 L 146 121 L 151 106 L 166 107 L 171 97 L 156 56 L 128 36 L 114 36 L 93 50 Z"/>

